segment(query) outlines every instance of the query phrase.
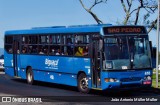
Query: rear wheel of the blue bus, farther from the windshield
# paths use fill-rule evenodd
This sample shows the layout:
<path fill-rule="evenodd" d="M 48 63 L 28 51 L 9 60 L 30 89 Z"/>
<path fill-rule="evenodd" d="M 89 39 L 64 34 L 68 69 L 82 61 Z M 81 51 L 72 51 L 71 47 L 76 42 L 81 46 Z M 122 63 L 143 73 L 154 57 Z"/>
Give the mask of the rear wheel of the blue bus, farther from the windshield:
<path fill-rule="evenodd" d="M 27 70 L 27 83 L 33 85 L 33 81 L 34 81 L 33 71 L 32 68 L 29 67 Z"/>

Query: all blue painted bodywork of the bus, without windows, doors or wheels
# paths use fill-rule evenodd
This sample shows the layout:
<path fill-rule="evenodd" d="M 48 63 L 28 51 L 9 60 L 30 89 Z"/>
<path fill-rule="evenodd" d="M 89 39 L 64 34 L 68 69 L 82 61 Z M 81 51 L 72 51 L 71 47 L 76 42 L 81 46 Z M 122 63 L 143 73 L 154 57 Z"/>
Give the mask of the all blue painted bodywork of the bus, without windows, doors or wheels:
<path fill-rule="evenodd" d="M 6 31 L 5 35 L 34 35 L 34 34 L 71 34 L 80 33 L 98 33 L 104 35 L 103 27 L 106 25 L 92 25 L 81 27 L 60 27 L 60 28 L 37 28 L 30 30 Z M 14 76 L 13 54 L 4 51 L 5 73 Z M 77 74 L 84 72 L 87 75 L 89 88 L 92 88 L 91 58 L 73 57 L 73 56 L 47 56 L 47 55 L 25 55 L 17 54 L 17 76 L 26 79 L 27 67 L 31 67 L 34 74 L 34 80 L 59 83 L 70 86 L 77 86 Z M 151 76 L 152 70 L 124 70 L 124 71 L 104 71 L 101 72 L 102 90 L 121 88 L 123 86 L 140 85 L 143 86 L 145 76 Z M 116 82 L 105 82 L 105 78 L 117 79 Z M 94 88 L 94 87 L 93 87 Z M 98 87 L 99 88 L 99 87 Z"/>

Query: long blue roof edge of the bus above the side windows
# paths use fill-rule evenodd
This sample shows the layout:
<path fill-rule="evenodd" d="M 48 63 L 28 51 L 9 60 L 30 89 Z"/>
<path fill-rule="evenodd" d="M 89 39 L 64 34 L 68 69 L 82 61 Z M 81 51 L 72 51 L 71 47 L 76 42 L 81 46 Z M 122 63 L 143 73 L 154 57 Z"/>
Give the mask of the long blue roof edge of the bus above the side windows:
<path fill-rule="evenodd" d="M 35 28 L 32 28 L 32 29 L 26 29 L 26 30 L 6 31 L 5 35 L 86 33 L 86 32 L 100 33 L 101 29 L 103 27 L 107 27 L 107 26 L 111 26 L 111 24 L 35 27 Z"/>

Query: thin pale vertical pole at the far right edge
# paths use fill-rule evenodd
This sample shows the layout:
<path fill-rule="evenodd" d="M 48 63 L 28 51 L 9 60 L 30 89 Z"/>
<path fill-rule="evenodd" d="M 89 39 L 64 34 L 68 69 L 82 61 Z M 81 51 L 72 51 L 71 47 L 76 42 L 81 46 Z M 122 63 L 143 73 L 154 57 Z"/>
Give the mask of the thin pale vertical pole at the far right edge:
<path fill-rule="evenodd" d="M 159 58 L 159 22 L 160 22 L 160 0 L 158 0 L 158 21 L 157 21 L 157 50 L 156 50 L 156 88 L 158 88 L 158 58 Z"/>

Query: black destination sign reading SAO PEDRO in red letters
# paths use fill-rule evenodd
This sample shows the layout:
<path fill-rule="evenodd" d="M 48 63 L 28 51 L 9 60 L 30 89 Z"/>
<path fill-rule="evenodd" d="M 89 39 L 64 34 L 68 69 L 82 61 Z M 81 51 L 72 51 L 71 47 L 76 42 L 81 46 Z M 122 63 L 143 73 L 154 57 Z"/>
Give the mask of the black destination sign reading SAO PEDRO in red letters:
<path fill-rule="evenodd" d="M 118 26 L 104 27 L 104 34 L 145 34 L 146 30 L 142 26 Z"/>

